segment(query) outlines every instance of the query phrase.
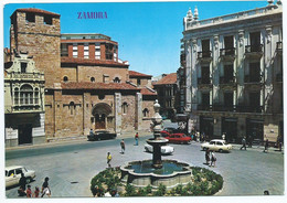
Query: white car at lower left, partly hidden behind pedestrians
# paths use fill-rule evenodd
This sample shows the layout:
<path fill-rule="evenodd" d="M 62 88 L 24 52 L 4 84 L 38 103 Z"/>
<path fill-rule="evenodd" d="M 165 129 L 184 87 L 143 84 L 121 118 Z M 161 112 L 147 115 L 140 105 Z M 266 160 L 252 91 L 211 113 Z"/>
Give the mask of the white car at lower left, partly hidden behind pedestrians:
<path fill-rule="evenodd" d="M 24 173 L 26 183 L 35 178 L 35 171 L 26 170 L 21 165 L 11 165 L 6 168 L 6 188 L 19 184 L 21 173 Z"/>

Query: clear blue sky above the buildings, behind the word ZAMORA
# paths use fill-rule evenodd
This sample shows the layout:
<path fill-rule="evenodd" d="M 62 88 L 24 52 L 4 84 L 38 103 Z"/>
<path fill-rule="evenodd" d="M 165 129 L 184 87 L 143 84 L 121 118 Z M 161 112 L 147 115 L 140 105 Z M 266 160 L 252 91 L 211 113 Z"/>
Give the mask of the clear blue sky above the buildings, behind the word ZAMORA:
<path fill-rule="evenodd" d="M 189 8 L 199 20 L 267 6 L 267 1 L 174 1 L 8 3 L 3 8 L 4 47 L 10 46 L 10 15 L 19 8 L 61 14 L 61 33 L 100 33 L 118 42 L 118 55 L 129 70 L 158 76 L 180 67 L 180 40 Z M 78 12 L 106 12 L 107 19 L 77 19 Z"/>

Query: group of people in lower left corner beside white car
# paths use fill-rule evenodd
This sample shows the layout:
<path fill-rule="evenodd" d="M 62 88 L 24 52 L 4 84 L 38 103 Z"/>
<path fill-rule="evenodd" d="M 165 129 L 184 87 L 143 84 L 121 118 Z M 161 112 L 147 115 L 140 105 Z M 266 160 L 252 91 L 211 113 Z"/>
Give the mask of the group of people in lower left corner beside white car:
<path fill-rule="evenodd" d="M 26 196 L 26 197 L 39 197 L 40 196 L 40 189 L 35 186 L 34 192 L 32 192 L 31 185 L 26 185 L 26 179 L 24 177 L 24 173 L 21 173 L 20 178 L 20 188 L 18 190 L 19 196 Z M 25 186 L 26 185 L 26 186 Z M 41 190 L 41 197 L 44 195 L 47 195 L 49 197 L 51 196 L 51 190 L 49 188 L 49 178 L 46 177 L 44 180 L 44 183 L 42 184 L 42 190 Z"/>

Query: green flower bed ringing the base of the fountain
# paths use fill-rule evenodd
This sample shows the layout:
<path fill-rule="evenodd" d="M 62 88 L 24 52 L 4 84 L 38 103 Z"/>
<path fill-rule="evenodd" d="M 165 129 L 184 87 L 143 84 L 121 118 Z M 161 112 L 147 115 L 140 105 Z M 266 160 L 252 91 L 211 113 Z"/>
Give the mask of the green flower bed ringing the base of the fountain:
<path fill-rule="evenodd" d="M 198 195 L 213 195 L 223 186 L 223 178 L 215 172 L 192 167 L 192 179 L 187 185 L 179 184 L 171 190 L 160 184 L 157 190 L 151 185 L 137 189 L 130 184 L 125 184 L 120 181 L 120 169 L 106 169 L 95 175 L 91 181 L 91 191 L 94 195 L 103 196 L 109 192 L 111 196 L 116 193 L 119 196 L 198 196 Z M 95 190 L 95 186 L 98 186 Z"/>

